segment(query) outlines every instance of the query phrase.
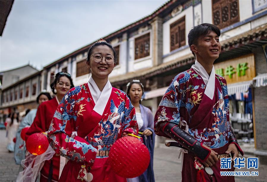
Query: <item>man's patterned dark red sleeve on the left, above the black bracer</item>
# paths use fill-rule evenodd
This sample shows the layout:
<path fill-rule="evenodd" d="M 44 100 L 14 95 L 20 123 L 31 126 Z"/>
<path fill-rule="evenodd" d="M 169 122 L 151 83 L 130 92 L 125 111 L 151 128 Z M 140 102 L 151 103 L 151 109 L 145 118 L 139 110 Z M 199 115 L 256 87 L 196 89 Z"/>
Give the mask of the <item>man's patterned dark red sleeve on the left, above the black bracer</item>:
<path fill-rule="evenodd" d="M 179 109 L 181 105 L 180 96 L 180 85 L 176 76 L 171 82 L 165 94 L 163 95 L 154 117 L 154 131 L 157 135 L 170 138 L 163 132 L 162 128 L 168 122 L 177 125 L 179 124 Z"/>

